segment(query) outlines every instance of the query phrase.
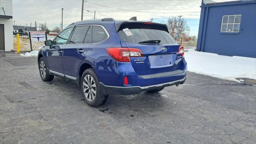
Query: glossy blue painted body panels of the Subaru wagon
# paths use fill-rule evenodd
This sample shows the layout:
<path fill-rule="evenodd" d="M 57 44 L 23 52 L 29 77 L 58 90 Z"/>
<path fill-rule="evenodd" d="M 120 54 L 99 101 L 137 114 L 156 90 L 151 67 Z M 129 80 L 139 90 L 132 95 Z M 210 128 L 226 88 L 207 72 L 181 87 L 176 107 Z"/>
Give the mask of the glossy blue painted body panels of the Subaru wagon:
<path fill-rule="evenodd" d="M 118 23 L 118 22 L 115 22 Z M 118 38 L 114 22 L 94 21 L 86 22 L 84 24 L 98 24 L 106 28 L 109 33 L 109 38 L 96 44 L 63 44 L 59 45 L 62 54 L 58 50 L 50 49 L 49 46 L 44 46 L 39 51 L 44 59 L 46 65 L 50 70 L 62 72 L 68 76 L 80 78 L 80 68 L 83 64 L 89 64 L 96 72 L 98 79 L 106 86 L 150 86 L 155 84 L 162 84 L 181 80 L 186 77 L 186 61 L 181 55 L 177 55 L 172 67 L 164 67 L 157 69 L 150 69 L 147 56 L 154 54 L 163 54 L 160 52 L 162 47 L 167 48 L 166 54 L 174 54 L 178 52 L 180 45 L 175 44 L 134 44 L 128 42 L 121 42 Z M 150 46 L 150 48 L 148 48 Z M 139 48 L 144 57 L 131 58 L 131 62 L 117 62 L 107 53 L 106 48 L 109 47 L 130 47 Z M 77 50 L 82 49 L 84 52 L 79 54 Z M 141 65 L 135 65 L 134 60 L 145 59 Z M 62 65 L 62 66 L 61 66 Z M 142 71 L 139 71 L 143 69 Z M 138 75 L 157 74 L 166 71 L 173 71 L 176 69 L 183 70 L 181 74 L 176 74 L 169 77 L 143 79 Z M 138 71 L 136 73 L 136 70 Z M 128 76 L 128 85 L 124 85 L 124 76 Z"/>

